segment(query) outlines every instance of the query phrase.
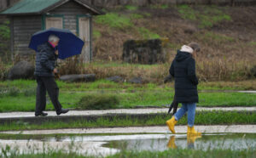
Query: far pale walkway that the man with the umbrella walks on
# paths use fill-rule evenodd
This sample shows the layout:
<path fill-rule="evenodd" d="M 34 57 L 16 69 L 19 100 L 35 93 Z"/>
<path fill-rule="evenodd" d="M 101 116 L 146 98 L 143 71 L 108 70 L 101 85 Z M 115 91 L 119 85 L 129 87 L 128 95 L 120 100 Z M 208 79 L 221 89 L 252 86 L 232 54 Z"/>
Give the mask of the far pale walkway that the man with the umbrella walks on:
<path fill-rule="evenodd" d="M 197 111 L 202 110 L 245 110 L 256 111 L 255 107 L 214 107 L 214 108 L 202 108 L 197 107 Z M 70 110 L 63 116 L 96 116 L 104 114 L 150 114 L 150 113 L 167 113 L 168 108 L 148 108 L 148 109 L 118 109 L 118 110 Z M 49 116 L 56 116 L 55 111 L 47 111 Z M 34 112 L 7 112 L 0 113 L 0 118 L 22 118 L 32 117 Z"/>

